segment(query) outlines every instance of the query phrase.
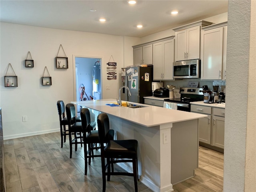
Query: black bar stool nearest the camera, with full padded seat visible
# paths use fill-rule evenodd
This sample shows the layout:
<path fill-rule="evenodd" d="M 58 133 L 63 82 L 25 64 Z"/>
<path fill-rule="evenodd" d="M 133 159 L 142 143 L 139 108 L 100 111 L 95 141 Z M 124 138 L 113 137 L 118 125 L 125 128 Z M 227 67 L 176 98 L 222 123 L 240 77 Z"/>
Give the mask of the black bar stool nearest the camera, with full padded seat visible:
<path fill-rule="evenodd" d="M 109 119 L 106 113 L 98 115 L 98 132 L 100 139 L 100 151 L 101 151 L 101 166 L 102 166 L 102 181 L 103 187 L 102 192 L 106 191 L 106 176 L 107 180 L 110 181 L 111 175 L 125 175 L 133 176 L 135 192 L 138 192 L 138 156 L 137 140 L 108 140 L 106 146 L 106 136 L 110 130 Z M 105 164 L 105 158 L 107 160 Z M 132 162 L 133 173 L 128 172 L 114 172 L 114 163 L 120 162 Z M 112 166 L 112 167 L 111 167 Z M 111 167 L 111 172 L 110 172 Z M 107 170 L 107 172 L 106 172 Z"/>

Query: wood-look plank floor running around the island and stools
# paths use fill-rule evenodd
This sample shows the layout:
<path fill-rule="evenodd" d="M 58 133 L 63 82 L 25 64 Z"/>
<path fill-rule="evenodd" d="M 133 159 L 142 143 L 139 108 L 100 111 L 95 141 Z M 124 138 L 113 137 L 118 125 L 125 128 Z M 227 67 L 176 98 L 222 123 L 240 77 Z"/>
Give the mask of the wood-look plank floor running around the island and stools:
<path fill-rule="evenodd" d="M 60 134 L 50 133 L 4 141 L 7 192 L 101 192 L 100 158 L 94 158 L 84 176 L 84 152 L 72 152 L 68 140 L 60 148 Z M 223 154 L 199 148 L 196 176 L 173 186 L 176 192 L 220 192 L 223 186 Z M 115 166 L 116 169 L 121 169 Z M 140 192 L 152 192 L 138 182 Z M 132 192 L 132 177 L 111 176 L 107 192 Z"/>

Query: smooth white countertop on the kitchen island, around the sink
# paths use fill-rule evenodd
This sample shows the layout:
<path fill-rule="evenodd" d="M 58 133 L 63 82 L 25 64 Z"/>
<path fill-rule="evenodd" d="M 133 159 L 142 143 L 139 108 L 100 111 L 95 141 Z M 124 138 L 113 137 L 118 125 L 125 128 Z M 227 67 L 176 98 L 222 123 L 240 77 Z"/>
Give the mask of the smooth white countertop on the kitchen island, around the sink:
<path fill-rule="evenodd" d="M 110 114 L 142 126 L 151 127 L 163 124 L 182 122 L 186 120 L 198 119 L 206 117 L 203 114 L 184 112 L 179 110 L 172 110 L 151 106 L 146 104 L 138 104 L 129 102 L 130 104 L 137 104 L 144 106 L 142 108 L 128 108 L 119 106 L 108 106 L 106 104 L 115 103 L 114 99 L 90 100 L 90 101 L 73 101 L 71 103 L 77 104 L 92 110 L 97 110 Z"/>

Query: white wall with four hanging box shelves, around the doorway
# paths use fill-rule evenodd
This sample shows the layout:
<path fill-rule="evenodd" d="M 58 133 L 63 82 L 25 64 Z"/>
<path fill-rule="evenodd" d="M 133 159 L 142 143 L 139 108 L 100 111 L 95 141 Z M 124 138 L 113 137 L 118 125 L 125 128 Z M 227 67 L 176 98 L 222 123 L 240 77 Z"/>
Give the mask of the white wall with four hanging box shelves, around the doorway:
<path fill-rule="evenodd" d="M 54 64 L 60 44 L 68 57 L 69 68 L 66 70 L 56 69 Z M 0 103 L 5 139 L 59 130 L 57 100 L 63 100 L 65 104 L 76 100 L 73 55 L 102 58 L 102 98 L 117 96 L 118 80 L 106 80 L 104 71 L 111 55 L 117 62 L 117 71 L 123 67 L 126 46 L 121 36 L 1 23 L 0 45 Z M 28 51 L 34 60 L 34 68 L 24 67 Z M 131 53 L 126 54 L 126 58 L 132 57 Z M 4 87 L 9 63 L 18 76 L 16 88 Z M 45 66 L 52 77 L 52 86 L 41 85 Z M 106 84 L 110 85 L 110 90 L 105 90 Z M 27 122 L 22 122 L 24 115 Z"/>

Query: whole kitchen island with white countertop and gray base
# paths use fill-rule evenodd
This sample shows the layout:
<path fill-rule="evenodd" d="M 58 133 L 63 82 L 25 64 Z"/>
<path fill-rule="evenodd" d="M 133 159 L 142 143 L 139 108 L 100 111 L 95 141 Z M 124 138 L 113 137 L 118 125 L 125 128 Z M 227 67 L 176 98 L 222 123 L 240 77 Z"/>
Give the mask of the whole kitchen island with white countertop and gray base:
<path fill-rule="evenodd" d="M 141 108 L 106 105 L 115 102 L 104 99 L 72 103 L 89 108 L 92 120 L 102 112 L 108 114 L 116 139 L 138 140 L 140 181 L 154 192 L 173 191 L 173 184 L 194 176 L 198 168 L 198 118 L 206 115 L 145 104 L 137 104 Z M 120 166 L 132 170 L 130 164 Z"/>

